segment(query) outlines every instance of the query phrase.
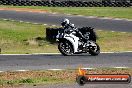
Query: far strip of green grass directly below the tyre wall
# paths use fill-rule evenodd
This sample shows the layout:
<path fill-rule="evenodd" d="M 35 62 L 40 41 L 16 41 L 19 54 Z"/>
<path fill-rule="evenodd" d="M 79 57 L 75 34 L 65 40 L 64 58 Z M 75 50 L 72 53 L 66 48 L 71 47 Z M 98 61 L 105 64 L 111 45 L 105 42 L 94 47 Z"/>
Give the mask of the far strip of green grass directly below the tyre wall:
<path fill-rule="evenodd" d="M 0 6 L 1 8 L 32 8 L 49 12 L 67 13 L 73 15 L 114 17 L 132 19 L 131 7 L 42 7 L 42 6 Z"/>

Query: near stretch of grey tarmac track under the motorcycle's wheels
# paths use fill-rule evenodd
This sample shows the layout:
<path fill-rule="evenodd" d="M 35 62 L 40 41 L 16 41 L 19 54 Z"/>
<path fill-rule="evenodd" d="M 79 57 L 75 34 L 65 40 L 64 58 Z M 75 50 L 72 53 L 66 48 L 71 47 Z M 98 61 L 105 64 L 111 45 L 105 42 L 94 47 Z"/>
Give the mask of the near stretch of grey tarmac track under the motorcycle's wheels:
<path fill-rule="evenodd" d="M 98 56 L 74 55 L 0 55 L 0 70 L 47 70 L 96 67 L 132 67 L 132 53 L 101 53 Z"/>

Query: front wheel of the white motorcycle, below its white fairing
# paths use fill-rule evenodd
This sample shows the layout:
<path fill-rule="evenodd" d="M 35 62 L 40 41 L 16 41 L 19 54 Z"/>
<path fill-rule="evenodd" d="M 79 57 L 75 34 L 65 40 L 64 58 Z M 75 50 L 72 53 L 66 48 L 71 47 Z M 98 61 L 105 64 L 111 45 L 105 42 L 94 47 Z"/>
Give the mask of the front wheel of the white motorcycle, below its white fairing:
<path fill-rule="evenodd" d="M 58 49 L 64 56 L 72 55 L 74 52 L 72 44 L 69 41 L 59 42 Z"/>

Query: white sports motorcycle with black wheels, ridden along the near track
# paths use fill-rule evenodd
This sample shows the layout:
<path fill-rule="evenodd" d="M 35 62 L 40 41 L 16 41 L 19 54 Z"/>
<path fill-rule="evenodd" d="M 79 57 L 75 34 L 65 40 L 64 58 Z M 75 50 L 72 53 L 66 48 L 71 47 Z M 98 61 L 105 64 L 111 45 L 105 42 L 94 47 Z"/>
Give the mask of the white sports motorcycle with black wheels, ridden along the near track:
<path fill-rule="evenodd" d="M 79 30 L 79 28 L 76 30 Z M 65 29 L 62 29 L 58 31 L 56 41 L 58 42 L 58 49 L 61 54 L 64 56 L 82 53 L 89 53 L 92 56 L 98 55 L 100 53 L 100 47 L 96 43 L 96 36 L 93 35 L 92 37 L 94 39 L 90 39 L 90 32 L 86 31 L 84 37 L 87 38 L 87 42 L 85 42 L 76 30 L 65 31 Z"/>

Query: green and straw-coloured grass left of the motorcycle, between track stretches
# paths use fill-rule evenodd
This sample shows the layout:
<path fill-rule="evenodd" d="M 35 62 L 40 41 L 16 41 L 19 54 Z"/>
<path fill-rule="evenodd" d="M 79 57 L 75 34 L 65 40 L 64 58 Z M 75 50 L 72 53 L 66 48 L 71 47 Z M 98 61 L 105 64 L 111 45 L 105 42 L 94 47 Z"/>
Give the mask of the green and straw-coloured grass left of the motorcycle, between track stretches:
<path fill-rule="evenodd" d="M 45 28 L 41 24 L 33 25 L 0 20 L 0 48 L 2 53 L 57 52 L 57 47 L 46 41 Z"/>

